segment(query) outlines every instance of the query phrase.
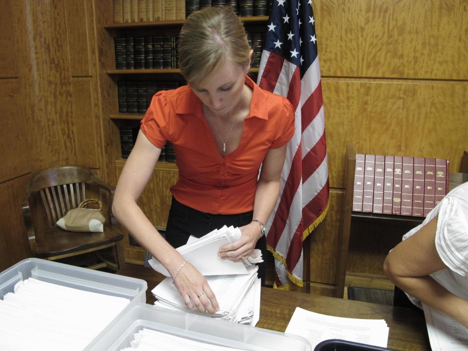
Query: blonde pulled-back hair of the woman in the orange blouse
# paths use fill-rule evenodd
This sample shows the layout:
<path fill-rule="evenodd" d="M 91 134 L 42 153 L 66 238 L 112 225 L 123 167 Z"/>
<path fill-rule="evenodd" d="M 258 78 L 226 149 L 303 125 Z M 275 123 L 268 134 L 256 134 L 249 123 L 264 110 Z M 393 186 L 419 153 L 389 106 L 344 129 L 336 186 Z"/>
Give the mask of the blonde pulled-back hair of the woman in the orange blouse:
<path fill-rule="evenodd" d="M 249 65 L 244 25 L 228 7 L 209 7 L 191 14 L 179 37 L 179 68 L 189 84 L 200 84 L 225 60 Z"/>

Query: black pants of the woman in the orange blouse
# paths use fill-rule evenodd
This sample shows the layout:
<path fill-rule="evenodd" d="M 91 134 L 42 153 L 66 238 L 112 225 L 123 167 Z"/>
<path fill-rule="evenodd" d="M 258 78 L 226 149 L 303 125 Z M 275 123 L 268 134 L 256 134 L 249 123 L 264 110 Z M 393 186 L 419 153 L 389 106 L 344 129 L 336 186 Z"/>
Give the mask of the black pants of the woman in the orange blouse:
<path fill-rule="evenodd" d="M 178 248 L 187 243 L 190 235 L 202 237 L 215 229 L 221 229 L 223 225 L 242 227 L 252 222 L 252 219 L 252 211 L 239 215 L 212 215 L 183 205 L 173 197 L 167 219 L 166 240 L 174 248 Z M 265 236 L 257 241 L 255 249 L 261 250 L 265 260 L 267 252 Z M 258 264 L 258 277 L 262 286 L 265 286 L 265 262 Z"/>

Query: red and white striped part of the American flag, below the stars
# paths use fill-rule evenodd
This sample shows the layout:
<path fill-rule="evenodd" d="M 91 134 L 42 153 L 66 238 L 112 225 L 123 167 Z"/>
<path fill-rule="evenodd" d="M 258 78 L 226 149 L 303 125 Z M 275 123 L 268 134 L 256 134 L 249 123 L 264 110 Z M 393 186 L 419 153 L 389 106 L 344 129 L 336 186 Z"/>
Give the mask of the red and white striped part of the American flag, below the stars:
<path fill-rule="evenodd" d="M 267 245 L 275 256 L 275 285 L 287 286 L 292 280 L 302 286 L 302 243 L 326 214 L 329 198 L 318 56 L 301 79 L 299 67 L 264 51 L 258 84 L 287 97 L 294 108 L 296 130 L 287 146 L 280 195 L 266 227 Z"/>

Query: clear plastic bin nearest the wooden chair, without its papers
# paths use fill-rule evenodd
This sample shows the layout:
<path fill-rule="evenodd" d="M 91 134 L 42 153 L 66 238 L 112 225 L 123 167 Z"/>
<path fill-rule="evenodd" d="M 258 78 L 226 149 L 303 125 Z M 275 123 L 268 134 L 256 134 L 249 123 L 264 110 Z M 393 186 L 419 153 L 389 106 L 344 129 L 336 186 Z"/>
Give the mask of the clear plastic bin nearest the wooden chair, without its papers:
<path fill-rule="evenodd" d="M 125 297 L 130 304 L 146 302 L 146 281 L 122 275 L 93 271 L 87 268 L 26 258 L 0 273 L 0 299 L 13 292 L 21 280 L 35 278 L 48 283 L 105 295 Z"/>

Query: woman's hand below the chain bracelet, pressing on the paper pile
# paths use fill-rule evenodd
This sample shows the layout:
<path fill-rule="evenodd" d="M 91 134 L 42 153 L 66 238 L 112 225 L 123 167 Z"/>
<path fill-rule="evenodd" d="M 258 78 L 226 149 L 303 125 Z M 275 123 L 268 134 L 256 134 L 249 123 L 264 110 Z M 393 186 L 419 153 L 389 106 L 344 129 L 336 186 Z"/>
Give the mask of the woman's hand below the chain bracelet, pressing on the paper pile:
<path fill-rule="evenodd" d="M 179 266 L 180 267 L 180 266 Z M 174 280 L 174 285 L 189 310 L 214 314 L 219 310 L 215 294 L 205 277 L 190 263 L 186 262 Z"/>

